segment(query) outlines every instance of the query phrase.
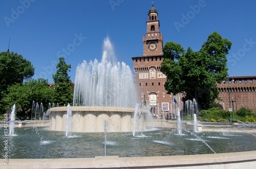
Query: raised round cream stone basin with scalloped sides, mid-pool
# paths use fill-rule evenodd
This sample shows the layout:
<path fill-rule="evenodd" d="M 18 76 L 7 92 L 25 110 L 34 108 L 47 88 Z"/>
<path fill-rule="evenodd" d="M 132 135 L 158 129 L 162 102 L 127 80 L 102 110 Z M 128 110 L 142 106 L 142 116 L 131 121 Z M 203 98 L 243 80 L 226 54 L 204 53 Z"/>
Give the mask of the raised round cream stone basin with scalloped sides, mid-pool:
<path fill-rule="evenodd" d="M 48 110 L 50 130 L 65 131 L 67 107 L 53 107 Z M 109 122 L 109 132 L 133 131 L 133 118 L 135 108 L 102 107 L 102 106 L 71 106 L 72 132 L 104 132 L 104 120 Z M 145 110 L 141 109 L 142 113 Z M 145 115 L 138 118 L 136 130 L 146 128 Z M 142 126 L 143 125 L 143 126 Z"/>

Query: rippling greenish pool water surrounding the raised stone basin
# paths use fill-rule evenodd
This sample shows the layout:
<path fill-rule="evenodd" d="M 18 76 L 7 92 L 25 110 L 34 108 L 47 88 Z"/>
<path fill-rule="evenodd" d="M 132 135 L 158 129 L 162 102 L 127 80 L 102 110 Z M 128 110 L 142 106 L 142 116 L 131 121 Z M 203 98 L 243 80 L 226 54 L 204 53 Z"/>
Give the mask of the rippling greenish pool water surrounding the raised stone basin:
<path fill-rule="evenodd" d="M 0 132 L 4 133 L 3 128 Z M 106 156 L 142 157 L 213 154 L 197 137 L 204 140 L 217 154 L 229 152 L 256 151 L 256 137 L 246 133 L 193 132 L 176 129 L 147 128 L 147 131 L 111 132 L 107 135 Z M 91 158 L 104 156 L 104 132 L 72 133 L 67 138 L 65 131 L 51 131 L 38 127 L 38 134 L 32 128 L 15 128 L 16 136 L 9 136 L 9 158 Z M 41 139 L 41 137 L 43 137 Z M 0 136 L 3 142 L 4 136 Z M 4 144 L 0 144 L 4 152 Z"/>

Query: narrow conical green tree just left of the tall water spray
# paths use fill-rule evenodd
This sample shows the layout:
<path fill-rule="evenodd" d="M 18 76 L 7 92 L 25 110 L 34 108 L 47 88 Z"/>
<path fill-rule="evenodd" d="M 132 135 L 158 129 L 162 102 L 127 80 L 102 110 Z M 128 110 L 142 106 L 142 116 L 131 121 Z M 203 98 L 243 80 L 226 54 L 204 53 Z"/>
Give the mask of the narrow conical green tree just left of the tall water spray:
<path fill-rule="evenodd" d="M 56 68 L 56 74 L 52 76 L 55 83 L 53 102 L 61 106 L 72 105 L 74 89 L 70 77 L 68 76 L 71 65 L 65 62 L 65 58 L 60 57 Z"/>

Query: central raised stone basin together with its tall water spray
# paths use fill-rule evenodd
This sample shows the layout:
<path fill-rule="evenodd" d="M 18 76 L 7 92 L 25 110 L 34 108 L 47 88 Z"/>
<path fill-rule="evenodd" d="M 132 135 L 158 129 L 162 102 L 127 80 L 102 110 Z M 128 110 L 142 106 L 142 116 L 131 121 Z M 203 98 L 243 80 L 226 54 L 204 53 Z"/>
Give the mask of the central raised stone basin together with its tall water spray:
<path fill-rule="evenodd" d="M 102 59 L 83 61 L 76 68 L 72 123 L 74 132 L 103 132 L 104 120 L 110 132 L 133 131 L 137 115 L 133 74 L 125 63 L 116 62 L 109 37 L 104 39 Z M 50 130 L 65 131 L 66 107 L 48 110 Z M 145 113 L 145 110 L 141 110 Z M 135 119 L 135 120 L 134 120 Z M 139 122 L 144 119 L 138 118 Z M 141 130 L 140 125 L 136 130 Z"/>

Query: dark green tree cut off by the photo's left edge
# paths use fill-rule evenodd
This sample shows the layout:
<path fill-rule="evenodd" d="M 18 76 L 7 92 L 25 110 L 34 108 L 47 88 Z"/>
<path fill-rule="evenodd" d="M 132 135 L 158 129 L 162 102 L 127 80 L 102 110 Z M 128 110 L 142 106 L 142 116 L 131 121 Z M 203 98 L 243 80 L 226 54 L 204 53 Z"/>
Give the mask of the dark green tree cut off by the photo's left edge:
<path fill-rule="evenodd" d="M 34 76 L 34 67 L 30 61 L 17 53 L 0 53 L 0 109 L 3 112 L 2 99 L 7 94 L 8 86 L 16 83 L 22 84 Z"/>

